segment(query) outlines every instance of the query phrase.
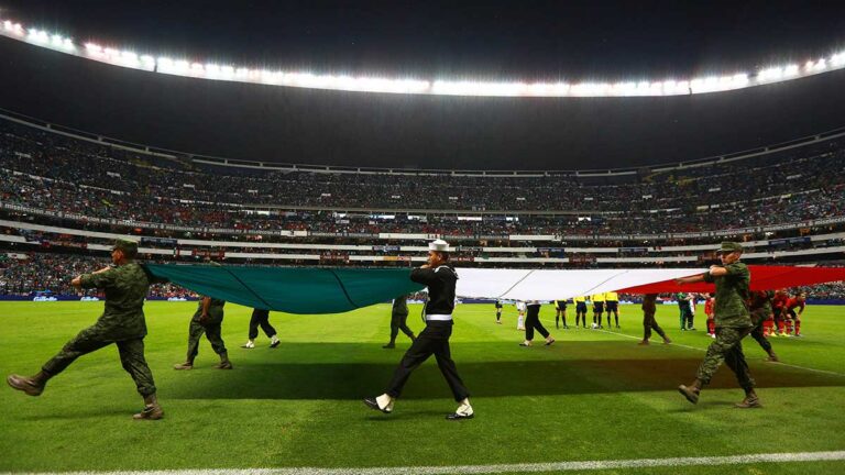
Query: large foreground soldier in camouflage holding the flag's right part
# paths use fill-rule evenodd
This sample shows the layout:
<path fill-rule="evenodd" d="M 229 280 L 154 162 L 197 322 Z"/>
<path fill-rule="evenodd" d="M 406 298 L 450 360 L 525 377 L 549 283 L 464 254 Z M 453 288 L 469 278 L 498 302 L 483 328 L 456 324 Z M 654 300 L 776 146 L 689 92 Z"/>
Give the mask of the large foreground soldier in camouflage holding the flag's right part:
<path fill-rule="evenodd" d="M 678 285 L 707 281 L 716 285 L 716 305 L 713 309 L 716 324 L 716 340 L 707 347 L 707 354 L 699 366 L 695 380 L 689 386 L 681 385 L 678 390 L 692 404 L 699 401 L 702 387 L 710 383 L 722 362 L 736 374 L 739 386 L 745 389 L 745 399 L 738 408 L 762 407 L 754 390 L 754 379 L 748 372 L 748 364 L 743 354 L 742 340 L 751 332 L 751 317 L 748 312 L 748 286 L 751 275 L 748 267 L 739 262 L 743 246 L 739 243 L 723 242 L 718 251 L 722 265 L 711 266 L 710 270 L 692 277 L 674 279 Z"/>

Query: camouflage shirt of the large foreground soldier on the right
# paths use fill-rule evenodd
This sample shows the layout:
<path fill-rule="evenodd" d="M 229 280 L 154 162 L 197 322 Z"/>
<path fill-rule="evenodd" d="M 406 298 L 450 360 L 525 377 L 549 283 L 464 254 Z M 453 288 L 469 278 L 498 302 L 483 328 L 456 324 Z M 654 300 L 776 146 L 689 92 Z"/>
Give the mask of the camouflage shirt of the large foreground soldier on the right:
<path fill-rule="evenodd" d="M 714 277 L 704 274 L 704 280 L 716 284 L 716 305 L 713 307 L 713 318 L 716 327 L 747 328 L 751 327 L 748 312 L 748 285 L 751 273 L 744 263 L 735 262 L 725 267 L 726 275 Z"/>

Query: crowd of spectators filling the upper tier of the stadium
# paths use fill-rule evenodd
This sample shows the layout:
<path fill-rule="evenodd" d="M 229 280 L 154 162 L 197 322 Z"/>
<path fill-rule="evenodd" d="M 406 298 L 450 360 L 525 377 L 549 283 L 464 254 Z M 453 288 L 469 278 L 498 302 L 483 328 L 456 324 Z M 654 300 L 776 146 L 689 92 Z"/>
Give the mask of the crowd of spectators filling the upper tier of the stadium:
<path fill-rule="evenodd" d="M 553 174 L 431 179 L 201 165 L 1 121 L 0 200 L 91 218 L 234 230 L 458 235 L 694 232 L 843 214 L 845 148 L 834 140 L 765 158 L 606 183 Z M 322 211 L 296 211 L 298 207 Z M 386 220 L 377 213 L 330 211 L 353 208 L 489 214 L 482 221 L 459 221 L 456 212 L 398 212 L 392 213 L 396 219 Z M 261 209 L 265 211 L 256 212 Z M 530 217 L 519 211 L 573 214 Z M 508 212 L 519 214 L 518 220 L 505 220 Z"/>

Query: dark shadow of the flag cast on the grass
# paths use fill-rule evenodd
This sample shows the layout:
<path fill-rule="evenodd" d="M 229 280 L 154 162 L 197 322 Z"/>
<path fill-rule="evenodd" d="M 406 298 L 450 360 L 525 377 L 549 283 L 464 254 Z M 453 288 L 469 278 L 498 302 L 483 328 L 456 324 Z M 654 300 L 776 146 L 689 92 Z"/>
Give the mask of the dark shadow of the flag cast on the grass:
<path fill-rule="evenodd" d="M 497 361 L 479 362 L 485 353 L 478 353 L 475 347 L 483 347 Z M 654 350 L 615 342 L 567 342 L 551 349 L 517 350 L 511 343 L 453 345 L 458 371 L 476 397 L 674 390 L 694 377 L 704 356 L 679 357 L 677 351 Z M 375 344 L 308 343 L 288 344 L 285 351 L 271 353 L 277 362 L 270 363 L 270 357 L 261 354 L 244 354 L 239 362 L 234 354 L 234 371 L 197 366 L 190 374 L 171 373 L 166 386 L 160 386 L 173 399 L 358 399 L 384 389 L 404 352 L 386 355 Z M 303 362 L 327 353 L 332 361 Z M 383 362 L 349 361 L 367 354 Z M 462 362 L 461 356 L 474 361 Z M 842 376 L 772 364 L 755 362 L 751 372 L 760 388 L 845 386 Z M 737 388 L 737 384 L 723 365 L 710 387 Z M 434 357 L 414 372 L 403 394 L 410 399 L 450 396 Z"/>

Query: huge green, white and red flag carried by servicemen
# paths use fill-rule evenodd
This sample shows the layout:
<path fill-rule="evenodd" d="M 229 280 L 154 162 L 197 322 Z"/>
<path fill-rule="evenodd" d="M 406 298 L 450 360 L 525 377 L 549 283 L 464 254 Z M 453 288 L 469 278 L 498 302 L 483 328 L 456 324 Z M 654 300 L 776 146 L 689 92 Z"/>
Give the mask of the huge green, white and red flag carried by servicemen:
<path fill-rule="evenodd" d="M 150 273 L 196 292 L 246 307 L 288 313 L 337 313 L 421 290 L 406 268 L 248 267 L 146 264 Z M 751 290 L 845 280 L 845 268 L 748 266 Z M 632 294 L 713 291 L 672 279 L 702 268 L 659 269 L 458 269 L 461 298 L 557 300 L 605 291 Z"/>

